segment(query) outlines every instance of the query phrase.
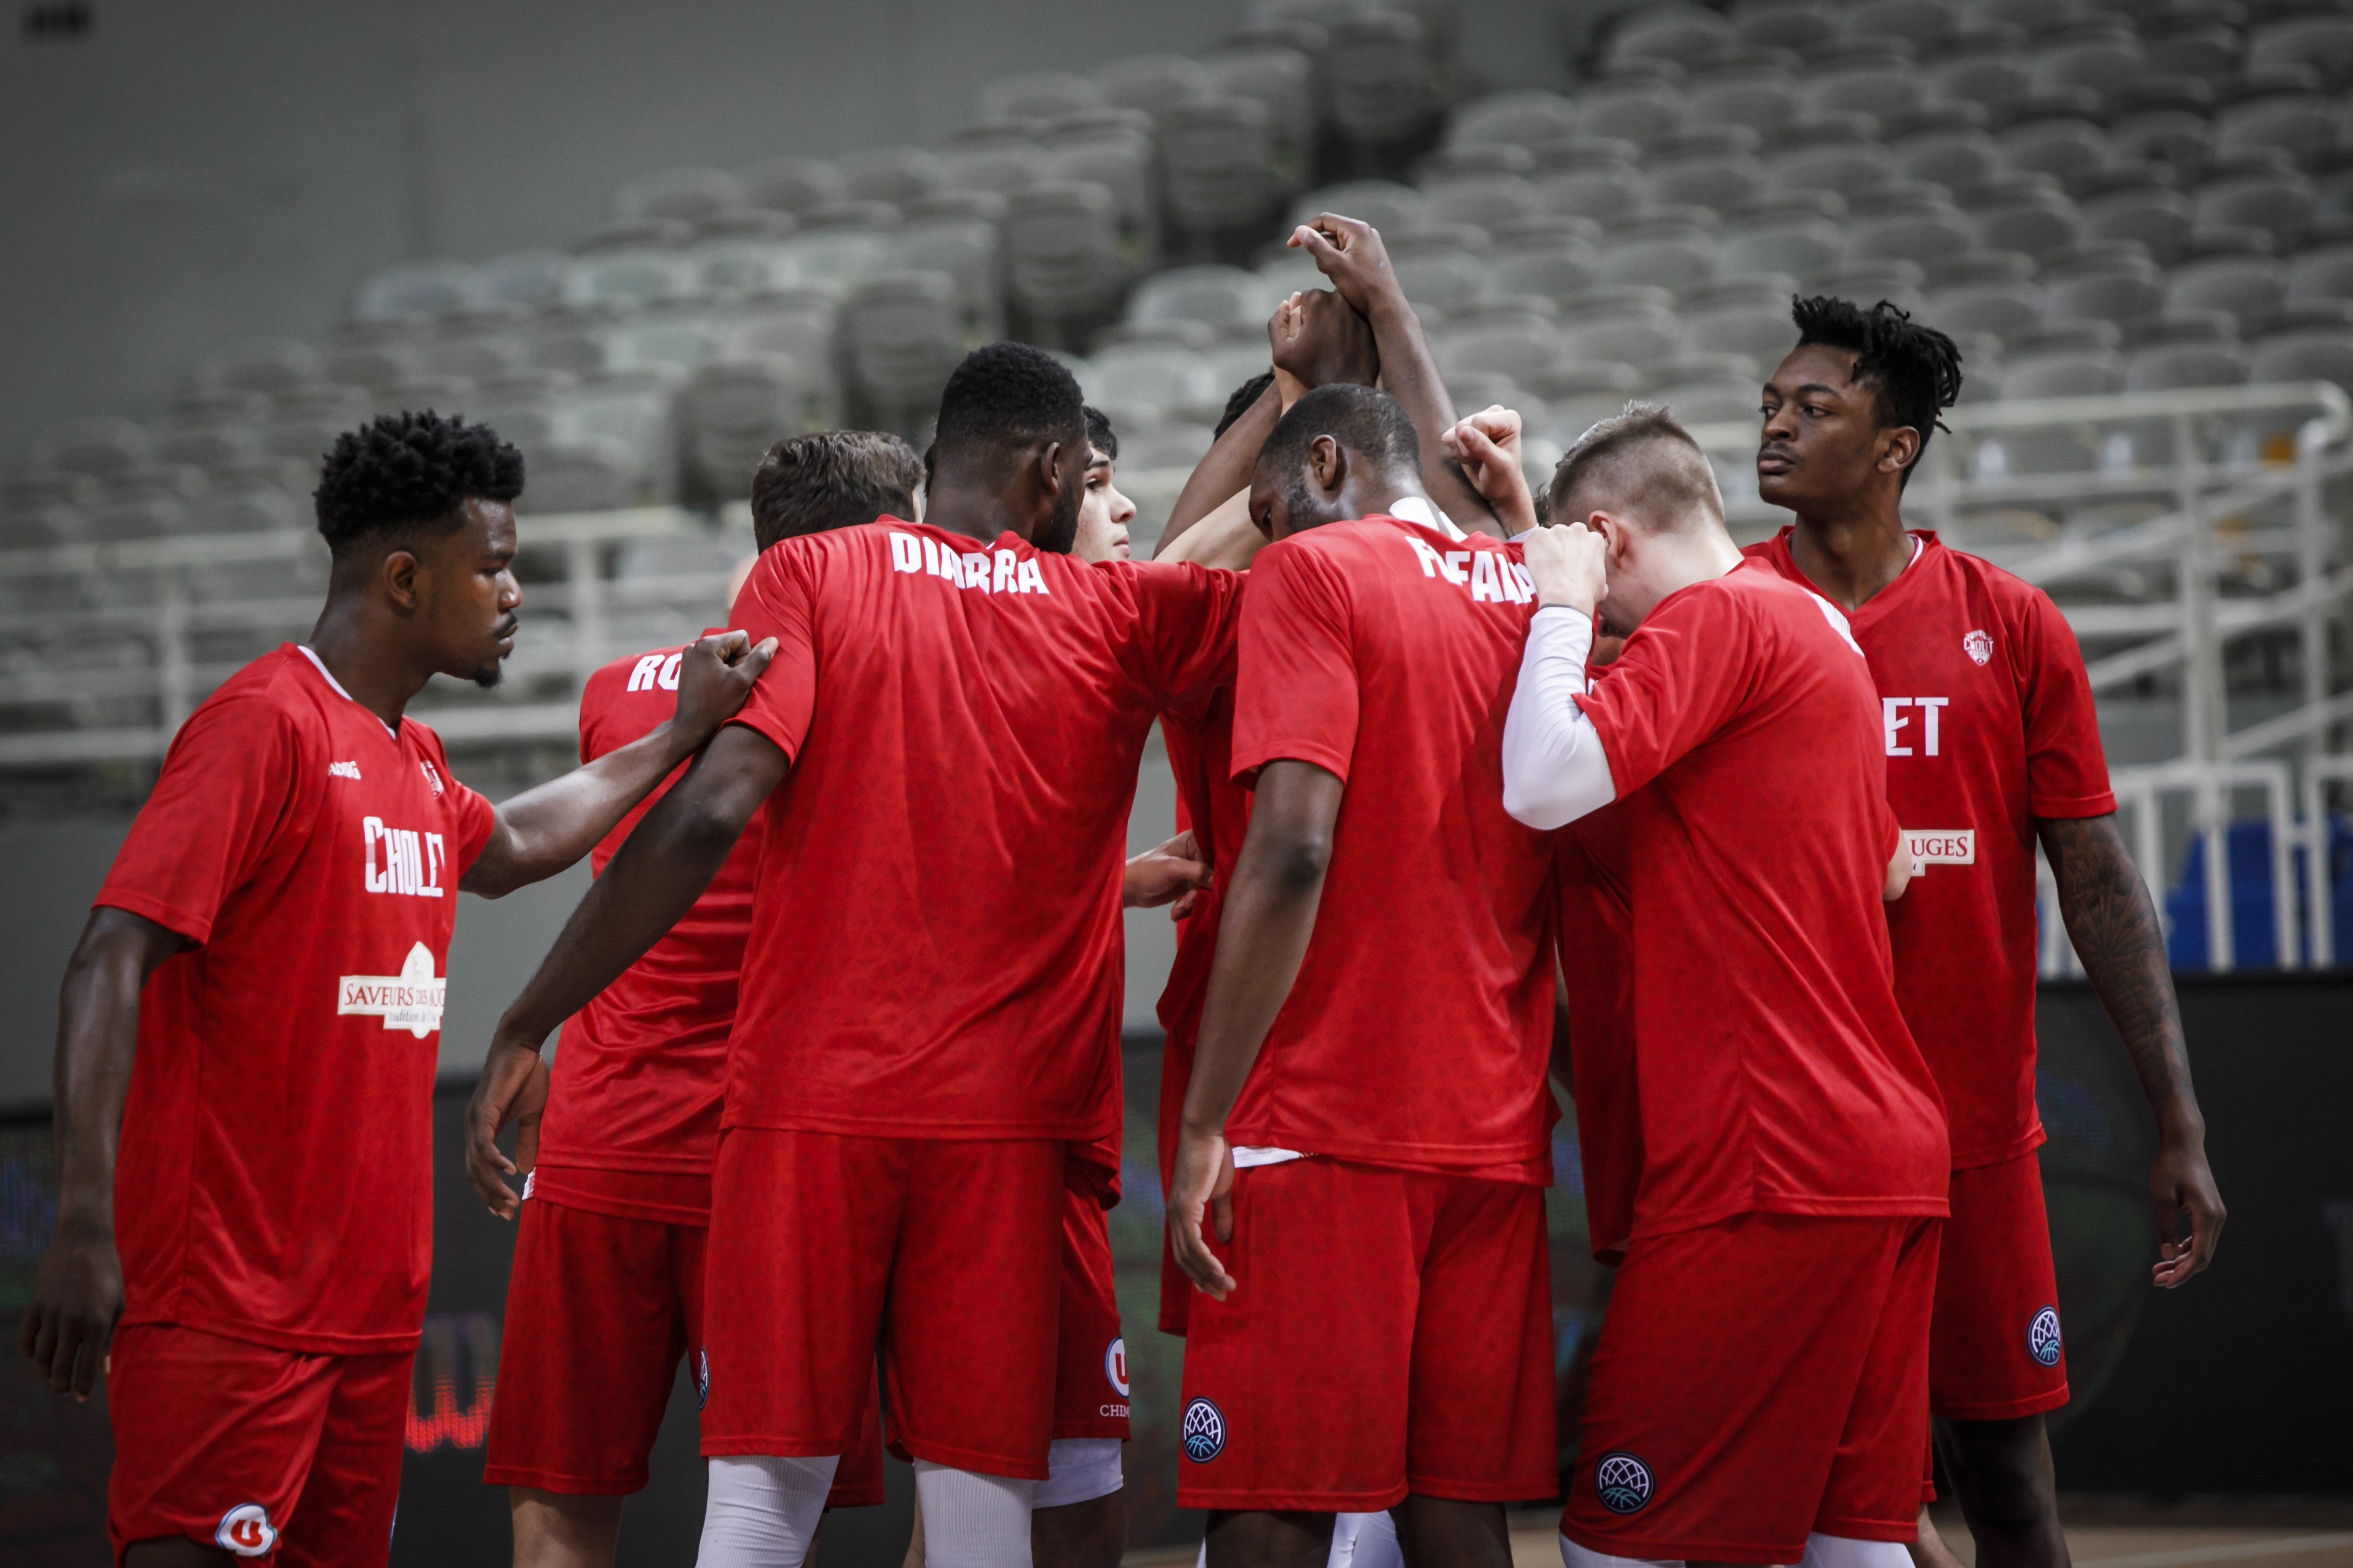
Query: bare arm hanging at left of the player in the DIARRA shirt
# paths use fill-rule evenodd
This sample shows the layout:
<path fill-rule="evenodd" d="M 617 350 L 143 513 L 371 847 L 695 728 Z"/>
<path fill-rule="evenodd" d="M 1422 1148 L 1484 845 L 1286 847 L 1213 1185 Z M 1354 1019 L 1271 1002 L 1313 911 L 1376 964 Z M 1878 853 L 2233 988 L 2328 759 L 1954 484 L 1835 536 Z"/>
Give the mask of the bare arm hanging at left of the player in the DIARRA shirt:
<path fill-rule="evenodd" d="M 788 771 L 784 748 L 755 729 L 729 724 L 713 736 L 685 778 L 621 842 L 539 973 L 506 1009 L 466 1110 L 466 1178 L 501 1220 L 515 1218 L 515 1194 L 501 1180 L 515 1166 L 499 1152 L 499 1128 L 513 1119 L 539 1067 L 539 1046 L 694 907 L 751 813 Z"/>

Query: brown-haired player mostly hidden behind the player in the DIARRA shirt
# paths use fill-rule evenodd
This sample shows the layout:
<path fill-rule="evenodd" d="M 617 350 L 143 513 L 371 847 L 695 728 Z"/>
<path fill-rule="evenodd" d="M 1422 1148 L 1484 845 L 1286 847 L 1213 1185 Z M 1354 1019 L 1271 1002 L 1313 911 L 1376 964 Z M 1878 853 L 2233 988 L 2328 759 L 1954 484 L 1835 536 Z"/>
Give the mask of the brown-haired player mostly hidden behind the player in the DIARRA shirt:
<path fill-rule="evenodd" d="M 767 550 L 906 515 L 920 484 L 922 463 L 896 435 L 795 435 L 753 473 L 753 538 Z M 588 677 L 581 762 L 671 719 L 682 654 L 654 649 Z M 593 870 L 647 804 L 605 835 Z M 534 1159 L 518 1150 L 529 1201 L 482 1467 L 487 1483 L 511 1488 L 518 1568 L 612 1563 L 621 1500 L 645 1486 L 678 1361 L 701 1347 L 711 1159 L 760 842 L 753 823 L 685 919 L 565 1025 Z M 466 1175 L 492 1213 L 515 1218 L 487 1154 L 471 1143 Z M 880 1434 L 849 1458 L 828 1507 L 882 1502 Z"/>

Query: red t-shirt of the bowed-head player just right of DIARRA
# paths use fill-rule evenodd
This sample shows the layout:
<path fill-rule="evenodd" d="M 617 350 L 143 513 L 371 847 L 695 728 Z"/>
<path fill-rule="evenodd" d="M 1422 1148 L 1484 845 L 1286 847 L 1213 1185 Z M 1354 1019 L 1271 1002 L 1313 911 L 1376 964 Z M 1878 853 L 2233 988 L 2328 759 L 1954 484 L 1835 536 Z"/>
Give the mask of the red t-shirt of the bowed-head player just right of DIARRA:
<path fill-rule="evenodd" d="M 1553 835 L 1504 813 L 1532 614 L 1515 548 L 1395 517 L 1252 562 L 1233 776 L 1297 759 L 1348 792 L 1235 1145 L 1551 1180 Z"/>

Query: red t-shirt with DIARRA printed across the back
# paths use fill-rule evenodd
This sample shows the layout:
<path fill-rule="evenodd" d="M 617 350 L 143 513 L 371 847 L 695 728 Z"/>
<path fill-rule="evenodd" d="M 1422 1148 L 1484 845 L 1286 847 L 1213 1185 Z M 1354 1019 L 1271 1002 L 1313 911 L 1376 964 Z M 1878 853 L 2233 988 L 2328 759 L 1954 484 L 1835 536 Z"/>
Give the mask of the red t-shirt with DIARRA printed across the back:
<path fill-rule="evenodd" d="M 1120 1126 L 1120 870 L 1160 710 L 1233 679 L 1240 576 L 882 517 L 769 548 L 736 715 L 767 802 L 725 1126 Z"/>

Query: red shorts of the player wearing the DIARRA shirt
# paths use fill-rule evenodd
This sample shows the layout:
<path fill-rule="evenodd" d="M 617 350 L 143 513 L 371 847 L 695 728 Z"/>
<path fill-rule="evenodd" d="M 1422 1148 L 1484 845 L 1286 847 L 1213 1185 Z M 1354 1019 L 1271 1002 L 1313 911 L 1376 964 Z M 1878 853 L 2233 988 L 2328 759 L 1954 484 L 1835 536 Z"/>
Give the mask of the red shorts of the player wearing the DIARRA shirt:
<path fill-rule="evenodd" d="M 875 1352 L 906 1453 L 1045 1479 L 1064 1143 L 727 1128 L 704 1455 L 847 1455 Z"/>

